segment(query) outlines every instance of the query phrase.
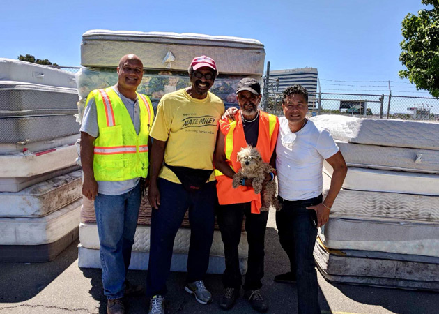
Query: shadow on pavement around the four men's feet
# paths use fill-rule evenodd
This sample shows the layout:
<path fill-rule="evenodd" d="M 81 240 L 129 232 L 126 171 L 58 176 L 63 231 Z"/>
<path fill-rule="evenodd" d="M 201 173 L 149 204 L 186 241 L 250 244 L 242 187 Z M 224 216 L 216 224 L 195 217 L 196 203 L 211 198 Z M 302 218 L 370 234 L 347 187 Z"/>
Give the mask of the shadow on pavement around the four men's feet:
<path fill-rule="evenodd" d="M 273 278 L 275 275 L 286 272 L 289 269 L 288 257 L 282 250 L 277 237 L 277 231 L 273 228 L 267 228 L 265 234 L 265 276 L 263 278 L 263 287 L 261 292 L 263 297 L 268 301 L 270 306 L 269 313 L 276 314 L 290 314 L 297 312 L 297 296 L 295 285 L 288 285 L 282 283 L 275 283 Z M 99 313 L 106 313 L 107 300 L 102 291 L 101 271 L 100 269 L 81 269 L 82 274 L 86 278 L 91 279 L 91 290 L 89 294 L 93 299 L 100 302 Z M 128 272 L 128 279 L 131 283 L 136 285 L 146 284 L 146 271 L 132 271 Z M 210 313 L 225 313 L 218 307 L 219 299 L 224 293 L 221 275 L 208 274 L 205 278 L 206 287 L 212 293 L 213 303 L 208 305 L 201 305 L 195 301 L 194 297 L 185 292 L 184 287 L 186 283 L 185 273 L 171 273 L 168 281 L 168 293 L 166 297 L 166 313 L 194 313 L 194 314 L 210 314 Z M 229 314 L 238 313 L 256 313 L 245 299 L 241 297 L 236 301 L 235 306 Z M 323 293 L 319 289 L 319 302 L 323 311 L 330 310 L 328 302 Z M 128 313 L 148 313 L 149 300 L 146 296 L 130 297 L 125 300 Z"/>

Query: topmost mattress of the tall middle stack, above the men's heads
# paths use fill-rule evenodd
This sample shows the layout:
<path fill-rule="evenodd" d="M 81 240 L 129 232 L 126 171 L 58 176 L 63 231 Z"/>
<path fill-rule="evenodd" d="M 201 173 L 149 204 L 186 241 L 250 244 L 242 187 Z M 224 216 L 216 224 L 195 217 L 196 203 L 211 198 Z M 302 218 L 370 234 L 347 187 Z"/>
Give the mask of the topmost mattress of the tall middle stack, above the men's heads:
<path fill-rule="evenodd" d="M 171 63 L 164 62 L 168 52 L 175 57 Z M 241 75 L 263 75 L 265 60 L 262 43 L 254 39 L 102 29 L 82 35 L 82 66 L 115 68 L 121 57 L 129 53 L 137 54 L 144 68 L 183 71 L 187 71 L 194 57 L 206 55 L 215 60 L 219 73 Z"/>

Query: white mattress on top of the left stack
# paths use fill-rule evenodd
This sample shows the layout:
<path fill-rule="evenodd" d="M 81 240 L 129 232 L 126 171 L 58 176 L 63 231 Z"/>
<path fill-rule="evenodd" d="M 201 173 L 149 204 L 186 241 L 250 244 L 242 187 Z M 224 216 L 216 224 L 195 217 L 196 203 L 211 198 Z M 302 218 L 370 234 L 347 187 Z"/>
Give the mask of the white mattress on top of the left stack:
<path fill-rule="evenodd" d="M 0 80 L 76 88 L 73 73 L 6 58 L 0 58 Z"/>

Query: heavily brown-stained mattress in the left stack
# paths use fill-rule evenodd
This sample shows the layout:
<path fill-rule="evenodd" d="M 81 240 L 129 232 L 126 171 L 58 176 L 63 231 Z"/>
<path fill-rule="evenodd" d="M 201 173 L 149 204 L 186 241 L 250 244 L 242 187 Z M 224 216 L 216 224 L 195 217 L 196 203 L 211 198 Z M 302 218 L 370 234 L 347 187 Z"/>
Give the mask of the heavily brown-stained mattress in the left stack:
<path fill-rule="evenodd" d="M 0 193 L 0 217 L 45 216 L 81 197 L 82 172 L 76 170 L 17 193 Z"/>

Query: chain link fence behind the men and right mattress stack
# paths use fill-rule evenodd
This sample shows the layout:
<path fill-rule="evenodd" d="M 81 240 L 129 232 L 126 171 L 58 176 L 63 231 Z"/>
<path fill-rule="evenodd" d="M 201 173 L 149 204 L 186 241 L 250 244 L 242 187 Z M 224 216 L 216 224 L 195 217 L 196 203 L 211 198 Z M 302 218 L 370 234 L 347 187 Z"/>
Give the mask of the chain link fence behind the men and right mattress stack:
<path fill-rule="evenodd" d="M 282 115 L 279 82 L 264 77 L 263 108 Z M 439 121 L 439 98 L 390 94 L 308 93 L 309 115 L 343 114 L 359 118 Z"/>

